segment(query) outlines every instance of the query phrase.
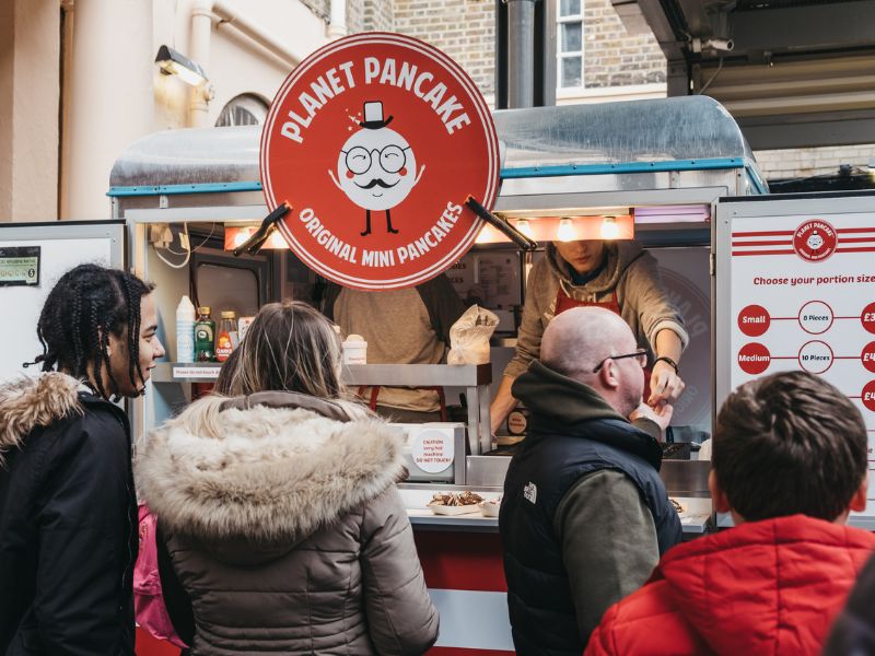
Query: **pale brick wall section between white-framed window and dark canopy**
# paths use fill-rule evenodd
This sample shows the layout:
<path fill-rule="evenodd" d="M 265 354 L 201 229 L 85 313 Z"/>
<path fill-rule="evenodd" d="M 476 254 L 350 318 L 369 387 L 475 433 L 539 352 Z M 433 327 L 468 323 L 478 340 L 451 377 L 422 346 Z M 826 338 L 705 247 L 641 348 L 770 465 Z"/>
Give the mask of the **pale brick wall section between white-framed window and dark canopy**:
<path fill-rule="evenodd" d="M 665 82 L 666 62 L 656 37 L 630 36 L 610 0 L 583 0 L 583 34 L 584 86 Z"/>

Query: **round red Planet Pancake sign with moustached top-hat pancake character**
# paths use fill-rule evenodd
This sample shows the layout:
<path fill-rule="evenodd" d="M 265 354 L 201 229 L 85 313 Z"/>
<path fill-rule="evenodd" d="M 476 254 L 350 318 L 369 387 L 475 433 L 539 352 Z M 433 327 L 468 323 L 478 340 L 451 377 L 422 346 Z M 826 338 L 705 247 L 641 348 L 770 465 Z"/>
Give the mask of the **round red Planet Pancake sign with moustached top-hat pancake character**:
<path fill-rule="evenodd" d="M 448 269 L 491 208 L 499 143 L 489 107 L 450 57 L 366 33 L 320 48 L 285 79 L 261 132 L 268 207 L 317 273 L 362 290 L 407 288 Z"/>

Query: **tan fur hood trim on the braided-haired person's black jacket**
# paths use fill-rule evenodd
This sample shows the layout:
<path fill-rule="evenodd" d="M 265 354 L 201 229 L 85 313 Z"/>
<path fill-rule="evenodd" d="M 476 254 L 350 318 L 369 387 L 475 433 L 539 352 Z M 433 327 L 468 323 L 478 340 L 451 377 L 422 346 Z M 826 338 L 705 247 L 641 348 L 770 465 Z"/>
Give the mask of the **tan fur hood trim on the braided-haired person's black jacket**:
<path fill-rule="evenodd" d="M 0 387 L 0 464 L 2 453 L 20 447 L 37 426 L 47 426 L 71 412 L 82 414 L 80 386 L 72 376 L 48 372 Z"/>

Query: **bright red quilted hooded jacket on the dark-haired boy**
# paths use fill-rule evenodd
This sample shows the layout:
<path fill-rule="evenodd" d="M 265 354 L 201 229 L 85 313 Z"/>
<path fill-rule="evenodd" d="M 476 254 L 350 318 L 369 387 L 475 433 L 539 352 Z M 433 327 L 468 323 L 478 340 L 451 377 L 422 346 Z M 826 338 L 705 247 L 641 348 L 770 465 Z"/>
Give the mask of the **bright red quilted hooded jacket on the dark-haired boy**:
<path fill-rule="evenodd" d="M 679 544 L 590 639 L 603 654 L 817 654 L 875 536 L 804 515 Z"/>

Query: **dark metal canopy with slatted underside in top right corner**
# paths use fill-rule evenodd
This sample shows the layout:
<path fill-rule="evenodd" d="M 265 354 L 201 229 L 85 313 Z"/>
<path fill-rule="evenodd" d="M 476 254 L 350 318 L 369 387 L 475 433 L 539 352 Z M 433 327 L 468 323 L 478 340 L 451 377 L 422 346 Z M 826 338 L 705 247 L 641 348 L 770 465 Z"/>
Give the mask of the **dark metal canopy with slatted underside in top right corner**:
<path fill-rule="evenodd" d="M 755 150 L 875 142 L 875 0 L 611 0 Z"/>

